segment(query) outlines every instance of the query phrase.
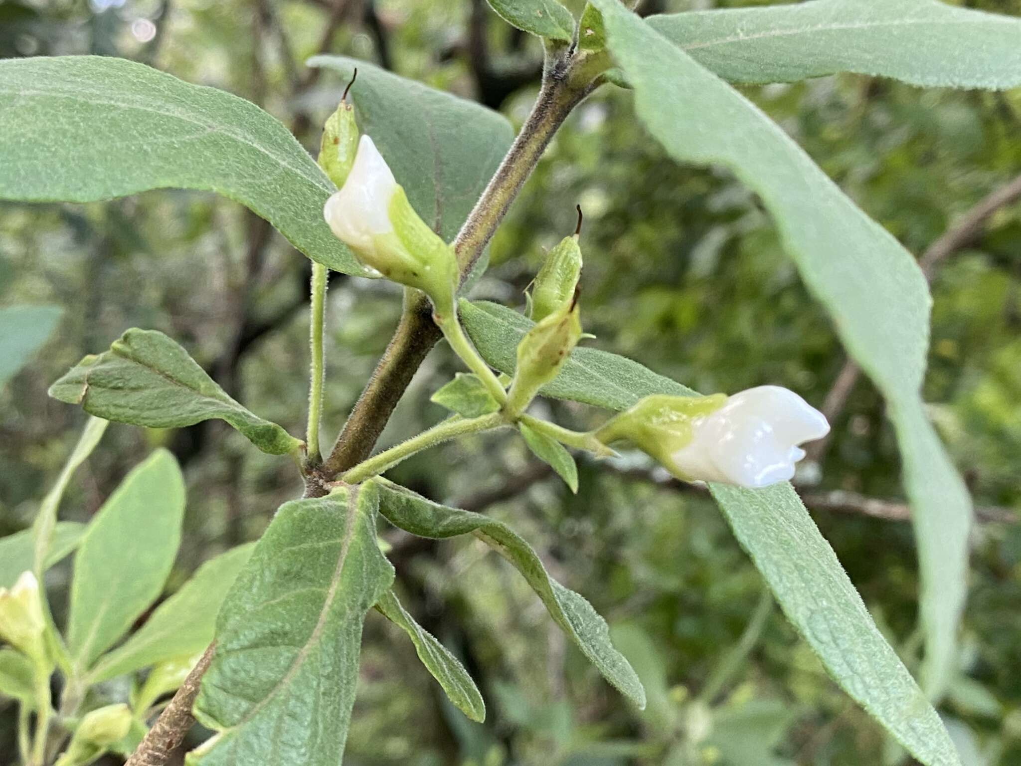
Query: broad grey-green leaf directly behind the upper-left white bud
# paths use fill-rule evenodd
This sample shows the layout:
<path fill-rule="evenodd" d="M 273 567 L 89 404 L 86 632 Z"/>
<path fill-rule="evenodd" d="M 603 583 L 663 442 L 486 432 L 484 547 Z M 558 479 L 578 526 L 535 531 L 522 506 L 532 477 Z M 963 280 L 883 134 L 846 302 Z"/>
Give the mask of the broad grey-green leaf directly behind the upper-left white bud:
<path fill-rule="evenodd" d="M 358 127 L 422 220 L 451 241 L 514 141 L 506 117 L 356 58 L 313 56 L 307 63 L 345 82 L 358 68 L 349 96 Z"/>

